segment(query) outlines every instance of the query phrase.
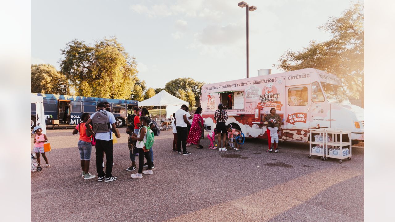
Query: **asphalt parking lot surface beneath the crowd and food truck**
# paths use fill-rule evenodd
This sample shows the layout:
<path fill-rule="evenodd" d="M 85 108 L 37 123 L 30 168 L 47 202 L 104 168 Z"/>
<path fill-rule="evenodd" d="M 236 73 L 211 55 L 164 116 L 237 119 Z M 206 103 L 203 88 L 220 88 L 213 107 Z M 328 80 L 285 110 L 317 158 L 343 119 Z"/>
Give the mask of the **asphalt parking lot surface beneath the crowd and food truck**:
<path fill-rule="evenodd" d="M 108 183 L 81 178 L 78 135 L 48 130 L 51 167 L 31 173 L 31 220 L 363 221 L 361 147 L 339 164 L 307 158 L 307 143 L 280 141 L 280 153 L 267 153 L 266 140 L 246 139 L 241 151 L 220 152 L 207 149 L 205 137 L 205 149 L 187 147 L 192 154 L 184 156 L 171 151 L 169 130 L 155 137 L 153 175 L 132 179 L 125 130 L 114 145 L 118 180 Z"/>

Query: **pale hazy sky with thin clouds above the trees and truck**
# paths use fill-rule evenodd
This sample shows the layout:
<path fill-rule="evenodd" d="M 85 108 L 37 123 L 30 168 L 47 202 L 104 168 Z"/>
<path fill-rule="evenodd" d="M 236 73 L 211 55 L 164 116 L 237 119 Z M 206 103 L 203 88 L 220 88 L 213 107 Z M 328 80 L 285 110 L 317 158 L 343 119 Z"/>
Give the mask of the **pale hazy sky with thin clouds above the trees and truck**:
<path fill-rule="evenodd" d="M 60 49 L 78 39 L 116 36 L 135 57 L 147 87 L 164 88 L 179 77 L 217 83 L 246 77 L 246 10 L 240 0 L 34 0 L 31 63 L 59 70 Z M 351 0 L 248 0 L 250 77 L 272 69 L 288 49 L 325 41 L 319 30 Z M 361 1 L 359 1 L 361 2 Z"/>

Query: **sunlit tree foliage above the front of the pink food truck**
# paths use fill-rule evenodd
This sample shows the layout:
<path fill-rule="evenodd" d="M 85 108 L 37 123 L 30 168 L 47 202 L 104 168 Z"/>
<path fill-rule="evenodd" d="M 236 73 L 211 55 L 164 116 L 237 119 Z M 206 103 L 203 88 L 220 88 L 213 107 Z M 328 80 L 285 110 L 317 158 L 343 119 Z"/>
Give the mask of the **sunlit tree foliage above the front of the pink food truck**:
<path fill-rule="evenodd" d="M 285 71 L 316 68 L 337 75 L 350 97 L 363 97 L 364 75 L 363 5 L 352 5 L 340 17 L 330 17 L 320 26 L 332 38 L 324 42 L 310 41 L 301 51 L 286 51 L 276 68 Z"/>

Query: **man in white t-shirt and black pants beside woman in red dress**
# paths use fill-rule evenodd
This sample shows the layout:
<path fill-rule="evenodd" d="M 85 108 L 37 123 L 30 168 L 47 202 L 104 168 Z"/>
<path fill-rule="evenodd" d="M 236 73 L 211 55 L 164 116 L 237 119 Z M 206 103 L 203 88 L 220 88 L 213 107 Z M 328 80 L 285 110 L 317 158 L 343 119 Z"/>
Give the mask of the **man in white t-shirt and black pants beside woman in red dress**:
<path fill-rule="evenodd" d="M 186 137 L 188 136 L 188 120 L 186 118 L 186 110 L 188 106 L 185 104 L 181 106 L 181 109 L 175 112 L 176 129 L 177 129 L 177 154 L 189 155 L 190 152 L 186 151 Z M 182 152 L 181 152 L 182 144 Z"/>

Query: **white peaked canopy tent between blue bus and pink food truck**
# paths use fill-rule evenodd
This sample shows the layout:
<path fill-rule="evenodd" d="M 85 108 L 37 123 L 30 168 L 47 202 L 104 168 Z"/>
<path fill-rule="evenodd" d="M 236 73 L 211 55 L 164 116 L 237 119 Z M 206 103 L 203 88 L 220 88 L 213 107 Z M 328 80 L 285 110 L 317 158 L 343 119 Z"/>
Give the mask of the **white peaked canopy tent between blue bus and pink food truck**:
<path fill-rule="evenodd" d="M 166 117 L 173 114 L 174 113 L 173 111 L 180 109 L 181 105 L 184 104 L 188 105 L 188 102 L 171 95 L 165 90 L 162 90 L 155 96 L 152 96 L 151 98 L 138 103 L 139 106 L 150 106 L 150 105 L 159 106 L 159 116 L 160 116 L 160 107 L 166 106 Z M 171 110 L 167 109 L 167 106 L 169 106 L 169 109 L 171 108 Z M 168 115 L 167 112 L 171 114 Z"/>

